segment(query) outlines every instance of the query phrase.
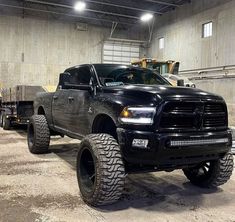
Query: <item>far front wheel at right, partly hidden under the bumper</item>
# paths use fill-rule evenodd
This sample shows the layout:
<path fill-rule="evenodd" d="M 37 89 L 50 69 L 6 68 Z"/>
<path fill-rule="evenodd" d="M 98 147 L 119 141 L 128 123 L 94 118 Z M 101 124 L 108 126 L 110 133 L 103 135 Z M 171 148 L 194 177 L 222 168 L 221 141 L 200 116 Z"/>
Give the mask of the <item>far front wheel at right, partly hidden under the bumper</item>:
<path fill-rule="evenodd" d="M 215 188 L 229 180 L 233 172 L 233 165 L 233 155 L 229 152 L 218 160 L 206 162 L 194 168 L 183 169 L 183 172 L 192 184 L 199 187 Z"/>

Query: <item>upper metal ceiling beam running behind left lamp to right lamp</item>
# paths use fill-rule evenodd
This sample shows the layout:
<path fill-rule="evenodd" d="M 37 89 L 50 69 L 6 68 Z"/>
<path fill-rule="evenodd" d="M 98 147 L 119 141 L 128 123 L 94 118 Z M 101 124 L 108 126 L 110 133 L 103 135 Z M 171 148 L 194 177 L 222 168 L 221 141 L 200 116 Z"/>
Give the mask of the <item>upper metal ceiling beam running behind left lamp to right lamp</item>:
<path fill-rule="evenodd" d="M 39 1 L 39 0 L 25 0 L 25 1 L 37 3 L 37 4 L 42 4 L 42 5 L 50 5 L 50 6 L 57 6 L 57 7 L 62 7 L 62 8 L 74 9 L 74 7 L 70 6 L 70 5 L 57 4 L 57 3 L 52 3 L 52 2 L 44 2 L 44 1 Z M 125 17 L 125 18 L 129 18 L 129 19 L 139 20 L 139 17 L 132 16 L 132 15 L 125 15 L 125 14 L 114 13 L 114 12 L 105 12 L 105 11 L 101 11 L 101 10 L 94 10 L 94 9 L 88 9 L 88 8 L 85 10 L 89 11 L 89 12 L 99 13 L 99 14 L 106 14 L 106 15 L 112 15 L 112 16 L 117 16 L 117 17 Z"/>

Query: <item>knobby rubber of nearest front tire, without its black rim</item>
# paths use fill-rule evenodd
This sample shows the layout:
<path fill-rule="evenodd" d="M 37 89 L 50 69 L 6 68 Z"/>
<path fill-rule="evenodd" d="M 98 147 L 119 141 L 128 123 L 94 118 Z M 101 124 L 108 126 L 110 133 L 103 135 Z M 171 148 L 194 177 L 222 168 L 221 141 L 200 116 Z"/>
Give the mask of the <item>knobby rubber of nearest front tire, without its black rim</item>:
<path fill-rule="evenodd" d="M 120 147 L 117 141 L 108 134 L 90 134 L 81 142 L 81 146 L 87 142 L 93 149 L 96 149 L 99 180 L 93 196 L 83 197 L 83 199 L 93 206 L 116 202 L 122 195 L 125 182 L 125 169 Z"/>

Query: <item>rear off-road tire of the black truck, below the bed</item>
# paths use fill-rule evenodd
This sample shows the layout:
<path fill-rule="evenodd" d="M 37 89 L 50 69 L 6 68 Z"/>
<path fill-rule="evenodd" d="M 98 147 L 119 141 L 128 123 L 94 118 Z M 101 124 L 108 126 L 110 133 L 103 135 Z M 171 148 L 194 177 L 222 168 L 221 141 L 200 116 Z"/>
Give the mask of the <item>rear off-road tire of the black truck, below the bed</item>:
<path fill-rule="evenodd" d="M 48 152 L 50 144 L 50 130 L 46 117 L 34 115 L 28 124 L 28 147 L 33 154 L 43 154 Z"/>

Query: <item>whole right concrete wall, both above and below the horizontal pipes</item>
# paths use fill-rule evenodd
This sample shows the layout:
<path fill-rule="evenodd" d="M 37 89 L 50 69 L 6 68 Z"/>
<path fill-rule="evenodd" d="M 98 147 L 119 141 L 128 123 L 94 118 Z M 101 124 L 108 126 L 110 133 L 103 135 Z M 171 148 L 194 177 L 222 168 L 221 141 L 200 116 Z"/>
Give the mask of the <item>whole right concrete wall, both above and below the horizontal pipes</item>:
<path fill-rule="evenodd" d="M 202 24 L 210 21 L 213 22 L 213 36 L 202 38 Z M 161 37 L 165 38 L 165 48 L 159 50 Z M 201 71 L 204 77 L 234 76 L 234 67 L 213 67 L 235 66 L 235 1 L 192 0 L 190 4 L 158 17 L 148 55 L 180 61 L 180 70 L 189 70 L 182 72 L 189 77 L 200 77 Z M 225 98 L 230 125 L 235 126 L 235 78 L 194 82 L 198 88 Z"/>

